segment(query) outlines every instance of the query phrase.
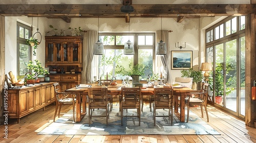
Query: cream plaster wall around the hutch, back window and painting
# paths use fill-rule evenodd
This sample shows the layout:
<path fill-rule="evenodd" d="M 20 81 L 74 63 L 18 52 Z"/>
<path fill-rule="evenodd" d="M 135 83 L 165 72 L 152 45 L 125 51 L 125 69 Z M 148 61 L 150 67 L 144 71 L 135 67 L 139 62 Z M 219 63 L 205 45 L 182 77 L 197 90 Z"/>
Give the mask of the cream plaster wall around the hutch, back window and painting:
<path fill-rule="evenodd" d="M 10 70 L 16 74 L 17 54 L 16 54 L 16 21 L 24 21 L 31 25 L 31 17 L 6 17 L 6 73 Z M 169 34 L 169 51 L 179 51 L 175 47 L 175 43 L 179 42 L 186 48 L 182 51 L 193 51 L 193 65 L 199 64 L 199 19 L 185 19 L 181 23 L 176 22 L 176 18 L 162 18 L 162 30 L 172 30 Z M 38 45 L 36 51 L 38 59 L 42 65 L 45 65 L 45 35 L 51 30 L 49 25 L 53 25 L 57 29 L 68 29 L 81 27 L 82 30 L 98 30 L 98 18 L 72 18 L 70 23 L 61 19 L 39 18 L 39 32 L 42 34 L 41 44 Z M 36 32 L 37 18 L 33 19 L 34 31 Z M 129 23 L 125 22 L 125 18 L 99 18 L 99 32 L 128 32 Z M 130 32 L 156 32 L 161 30 L 161 18 L 131 18 Z M 49 36 L 49 34 L 48 34 Z M 86 50 L 87 38 L 83 39 L 83 48 Z M 84 52 L 83 52 L 84 53 Z M 170 54 L 170 53 L 169 53 Z M 83 58 L 87 57 L 83 55 Z M 85 60 L 84 60 L 85 61 Z M 169 59 L 170 61 L 170 59 Z M 170 62 L 169 62 L 170 63 Z M 11 66 L 9 66 L 11 65 Z M 170 69 L 170 64 L 168 65 Z M 85 72 L 85 71 L 83 71 Z M 170 71 L 171 80 L 181 76 L 180 70 Z"/>

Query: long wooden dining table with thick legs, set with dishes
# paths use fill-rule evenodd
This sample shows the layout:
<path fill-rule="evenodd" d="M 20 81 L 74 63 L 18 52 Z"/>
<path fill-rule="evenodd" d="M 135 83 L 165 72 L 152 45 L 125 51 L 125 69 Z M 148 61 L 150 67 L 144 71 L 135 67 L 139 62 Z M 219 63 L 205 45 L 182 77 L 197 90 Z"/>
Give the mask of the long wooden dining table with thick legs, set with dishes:
<path fill-rule="evenodd" d="M 92 85 L 92 87 L 98 87 L 97 84 Z M 109 85 L 108 94 L 111 96 L 120 96 L 121 94 L 121 86 L 122 84 L 117 85 Z M 162 87 L 162 85 L 158 86 Z M 197 90 L 193 90 L 187 87 L 183 88 L 173 88 L 174 90 L 174 113 L 179 118 L 180 122 L 185 122 L 185 97 L 188 92 L 198 92 Z M 76 122 L 81 122 L 82 118 L 86 115 L 86 100 L 88 96 L 88 88 L 77 88 L 73 87 L 67 89 L 66 92 L 72 92 L 76 94 Z M 141 89 L 142 97 L 143 95 L 153 96 L 154 88 L 142 87 Z M 180 112 L 178 110 L 178 97 L 180 96 Z M 82 102 L 81 102 L 82 101 Z M 120 104 L 119 104 L 120 105 Z"/>

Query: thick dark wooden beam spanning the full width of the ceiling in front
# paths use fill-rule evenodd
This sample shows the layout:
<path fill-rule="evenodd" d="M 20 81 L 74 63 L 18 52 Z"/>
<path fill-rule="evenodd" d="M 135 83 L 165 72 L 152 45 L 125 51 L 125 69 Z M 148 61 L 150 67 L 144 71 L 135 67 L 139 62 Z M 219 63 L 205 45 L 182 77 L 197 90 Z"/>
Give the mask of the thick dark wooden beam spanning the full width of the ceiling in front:
<path fill-rule="evenodd" d="M 120 5 L 79 5 L 79 4 L 56 4 L 56 5 L 0 5 L 0 15 L 3 16 L 35 16 L 52 17 L 125 17 L 126 13 L 120 11 Z M 254 14 L 256 5 L 163 5 L 145 4 L 133 5 L 134 12 L 131 17 L 173 17 L 186 16 L 186 18 L 199 18 L 208 16 L 239 16 Z M 82 16 L 78 16 L 82 14 Z"/>

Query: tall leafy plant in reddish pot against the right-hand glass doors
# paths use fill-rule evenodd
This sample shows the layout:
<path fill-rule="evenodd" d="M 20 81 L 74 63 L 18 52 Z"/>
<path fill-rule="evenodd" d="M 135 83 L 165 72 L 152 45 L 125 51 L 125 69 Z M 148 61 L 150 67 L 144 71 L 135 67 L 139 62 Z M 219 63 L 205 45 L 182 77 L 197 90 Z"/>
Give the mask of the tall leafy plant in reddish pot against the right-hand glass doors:
<path fill-rule="evenodd" d="M 228 65 L 226 66 L 228 67 Z M 226 74 L 229 73 L 231 68 L 226 68 Z M 214 91 L 214 85 L 215 85 L 215 102 L 217 104 L 221 104 L 222 97 L 224 95 L 224 73 L 223 73 L 224 67 L 222 63 L 216 63 L 215 67 L 215 81 L 213 79 L 213 73 L 211 71 L 210 77 L 209 77 L 209 88 L 211 91 Z M 229 77 L 226 79 L 226 85 L 231 84 L 233 81 L 232 77 Z M 225 94 L 226 96 L 230 94 L 234 88 L 226 87 Z"/>

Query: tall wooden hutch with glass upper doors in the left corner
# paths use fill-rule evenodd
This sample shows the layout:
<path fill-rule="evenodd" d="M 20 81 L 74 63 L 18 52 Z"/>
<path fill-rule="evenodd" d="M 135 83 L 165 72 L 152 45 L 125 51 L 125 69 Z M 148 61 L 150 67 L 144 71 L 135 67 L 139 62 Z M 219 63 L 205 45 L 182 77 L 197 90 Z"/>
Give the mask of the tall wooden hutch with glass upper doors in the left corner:
<path fill-rule="evenodd" d="M 80 84 L 83 49 L 82 37 L 46 36 L 45 39 L 46 67 L 49 67 L 50 71 L 55 69 L 57 71 L 56 74 L 49 75 L 50 81 L 58 82 L 62 92 Z"/>

